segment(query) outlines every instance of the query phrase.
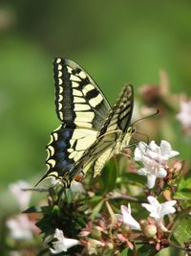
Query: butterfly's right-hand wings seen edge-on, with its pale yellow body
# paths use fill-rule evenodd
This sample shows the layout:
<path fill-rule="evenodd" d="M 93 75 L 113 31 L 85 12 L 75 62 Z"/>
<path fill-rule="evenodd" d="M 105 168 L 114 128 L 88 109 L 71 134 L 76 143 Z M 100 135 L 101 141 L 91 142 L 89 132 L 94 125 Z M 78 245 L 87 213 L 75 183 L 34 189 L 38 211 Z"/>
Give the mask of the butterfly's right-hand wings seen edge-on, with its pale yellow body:
<path fill-rule="evenodd" d="M 119 153 L 123 137 L 130 127 L 133 112 L 133 86 L 123 87 L 116 105 L 111 109 L 96 142 L 87 149 L 70 171 L 70 182 L 81 172 L 86 173 L 94 164 L 94 175 L 100 173 L 106 161 Z M 131 136 L 131 132 L 129 134 Z"/>

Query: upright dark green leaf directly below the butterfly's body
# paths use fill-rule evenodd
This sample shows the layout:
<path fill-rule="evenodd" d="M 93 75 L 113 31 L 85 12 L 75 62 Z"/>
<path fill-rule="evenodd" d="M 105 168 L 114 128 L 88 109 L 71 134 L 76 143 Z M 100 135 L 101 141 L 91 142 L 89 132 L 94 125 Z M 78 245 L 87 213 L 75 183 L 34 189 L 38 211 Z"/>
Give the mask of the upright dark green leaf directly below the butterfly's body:
<path fill-rule="evenodd" d="M 110 161 L 101 172 L 101 189 L 104 193 L 114 190 L 117 181 L 117 166 Z"/>

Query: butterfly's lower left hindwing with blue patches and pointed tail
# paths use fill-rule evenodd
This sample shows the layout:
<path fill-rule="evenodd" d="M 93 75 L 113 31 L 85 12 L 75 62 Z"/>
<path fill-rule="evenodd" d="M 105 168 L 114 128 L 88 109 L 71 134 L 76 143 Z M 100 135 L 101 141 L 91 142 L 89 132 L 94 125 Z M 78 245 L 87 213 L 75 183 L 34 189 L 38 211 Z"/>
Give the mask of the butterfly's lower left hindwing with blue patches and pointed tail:
<path fill-rule="evenodd" d="M 53 177 L 67 184 L 67 175 L 83 152 L 96 141 L 97 132 L 87 128 L 71 128 L 62 125 L 53 130 L 47 145 L 47 173 L 40 179 Z M 39 181 L 39 182 L 40 182 Z M 39 183 L 38 182 L 38 183 Z"/>

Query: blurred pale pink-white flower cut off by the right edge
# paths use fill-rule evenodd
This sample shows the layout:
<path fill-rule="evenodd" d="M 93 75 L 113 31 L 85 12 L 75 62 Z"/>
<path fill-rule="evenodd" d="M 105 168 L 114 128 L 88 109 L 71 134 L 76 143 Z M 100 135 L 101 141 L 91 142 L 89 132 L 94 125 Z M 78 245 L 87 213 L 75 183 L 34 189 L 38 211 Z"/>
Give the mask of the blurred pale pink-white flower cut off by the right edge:
<path fill-rule="evenodd" d="M 183 128 L 191 128 L 191 101 L 180 102 L 180 113 L 177 115 Z"/>

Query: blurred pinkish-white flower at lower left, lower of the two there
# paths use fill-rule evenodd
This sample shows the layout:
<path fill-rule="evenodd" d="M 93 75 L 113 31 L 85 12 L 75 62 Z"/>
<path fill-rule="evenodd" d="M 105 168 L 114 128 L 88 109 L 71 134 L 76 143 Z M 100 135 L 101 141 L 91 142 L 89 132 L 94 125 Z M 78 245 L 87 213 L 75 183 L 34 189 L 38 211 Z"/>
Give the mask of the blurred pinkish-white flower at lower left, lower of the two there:
<path fill-rule="evenodd" d="M 33 221 L 30 221 L 26 214 L 20 214 L 15 218 L 6 221 L 11 230 L 11 237 L 15 240 L 31 240 L 32 230 L 35 229 Z"/>

